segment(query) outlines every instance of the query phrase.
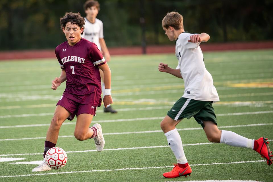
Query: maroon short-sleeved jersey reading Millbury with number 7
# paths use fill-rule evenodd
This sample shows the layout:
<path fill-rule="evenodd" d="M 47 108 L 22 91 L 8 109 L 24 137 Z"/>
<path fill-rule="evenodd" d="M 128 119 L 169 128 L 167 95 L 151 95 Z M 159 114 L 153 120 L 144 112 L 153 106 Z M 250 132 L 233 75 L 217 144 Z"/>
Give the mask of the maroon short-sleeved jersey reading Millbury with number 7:
<path fill-rule="evenodd" d="M 81 104 L 100 106 L 102 88 L 98 66 L 106 61 L 96 44 L 84 38 L 74 46 L 66 41 L 56 47 L 55 54 L 67 78 L 63 96 Z"/>

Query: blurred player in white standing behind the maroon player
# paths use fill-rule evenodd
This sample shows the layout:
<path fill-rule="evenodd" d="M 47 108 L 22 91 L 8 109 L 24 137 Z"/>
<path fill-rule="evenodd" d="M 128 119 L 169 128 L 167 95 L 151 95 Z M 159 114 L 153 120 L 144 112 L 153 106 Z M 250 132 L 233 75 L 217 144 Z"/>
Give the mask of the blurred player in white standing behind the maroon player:
<path fill-rule="evenodd" d="M 104 55 L 105 60 L 109 62 L 111 58 L 103 38 L 103 23 L 101 20 L 96 18 L 100 11 L 100 4 L 98 1 L 94 0 L 86 1 L 84 3 L 84 11 L 86 13 L 86 17 L 84 17 L 85 25 L 82 38 L 85 38 L 90 42 L 94 42 Z M 102 79 L 102 93 L 104 95 L 104 76 L 101 69 L 100 76 Z M 117 111 L 113 109 L 111 105 L 108 105 L 106 108 L 104 108 L 104 112 L 117 113 Z"/>

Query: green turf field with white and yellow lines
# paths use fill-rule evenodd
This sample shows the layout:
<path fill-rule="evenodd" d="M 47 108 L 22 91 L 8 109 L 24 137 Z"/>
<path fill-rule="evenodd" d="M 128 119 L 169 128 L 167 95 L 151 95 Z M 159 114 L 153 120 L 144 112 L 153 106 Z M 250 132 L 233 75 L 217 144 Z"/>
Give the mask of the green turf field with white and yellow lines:
<path fill-rule="evenodd" d="M 272 141 L 273 50 L 206 52 L 204 61 L 220 97 L 214 104 L 220 129 Z M 177 125 L 193 173 L 162 176 L 176 160 L 160 121 L 183 95 L 184 82 L 160 73 L 160 62 L 177 65 L 174 54 L 112 56 L 112 106 L 118 113 L 98 108 L 92 121 L 102 125 L 105 150 L 94 151 L 94 140 L 76 140 L 76 119 L 67 120 L 57 142 L 68 154 L 67 165 L 40 173 L 31 172 L 36 164 L 10 163 L 42 160 L 46 131 L 65 88 L 65 83 L 50 88 L 60 74 L 59 63 L 0 62 L 0 158 L 24 158 L 0 162 L 0 181 L 272 181 L 273 165 L 257 152 L 209 143 L 193 118 Z"/>

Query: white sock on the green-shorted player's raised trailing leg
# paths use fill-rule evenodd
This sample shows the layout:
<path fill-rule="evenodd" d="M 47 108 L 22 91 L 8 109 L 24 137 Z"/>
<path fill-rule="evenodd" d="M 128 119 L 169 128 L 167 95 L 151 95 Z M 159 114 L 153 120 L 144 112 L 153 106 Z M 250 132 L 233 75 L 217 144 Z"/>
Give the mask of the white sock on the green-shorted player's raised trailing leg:
<path fill-rule="evenodd" d="M 232 131 L 222 130 L 220 143 L 225 143 L 235 147 L 251 148 L 254 147 L 254 140 L 242 137 Z"/>

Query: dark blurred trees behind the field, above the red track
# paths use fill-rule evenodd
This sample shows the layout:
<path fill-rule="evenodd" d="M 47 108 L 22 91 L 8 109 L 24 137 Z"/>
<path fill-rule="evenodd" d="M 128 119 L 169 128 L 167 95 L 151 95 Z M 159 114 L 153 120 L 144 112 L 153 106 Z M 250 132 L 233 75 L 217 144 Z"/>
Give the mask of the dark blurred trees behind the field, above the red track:
<path fill-rule="evenodd" d="M 59 18 L 85 16 L 85 0 L 1 0 L 0 50 L 55 48 L 66 41 Z M 184 17 L 184 29 L 206 32 L 210 42 L 272 40 L 272 0 L 99 0 L 108 47 L 172 44 L 161 26 L 167 12 Z M 142 21 L 140 21 L 142 20 Z M 142 23 L 141 23 L 142 22 Z"/>

